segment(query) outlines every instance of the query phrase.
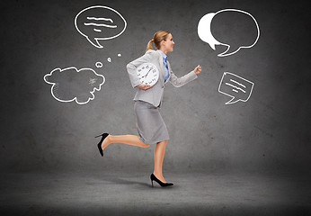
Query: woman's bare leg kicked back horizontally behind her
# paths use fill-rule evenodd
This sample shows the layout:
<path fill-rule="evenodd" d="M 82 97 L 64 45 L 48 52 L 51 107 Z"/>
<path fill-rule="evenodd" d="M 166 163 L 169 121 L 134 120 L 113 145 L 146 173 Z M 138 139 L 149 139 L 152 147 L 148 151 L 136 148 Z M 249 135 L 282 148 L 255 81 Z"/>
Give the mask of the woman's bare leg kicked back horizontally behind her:
<path fill-rule="evenodd" d="M 138 136 L 135 135 L 120 135 L 120 136 L 108 135 L 106 139 L 104 139 L 102 142 L 102 149 L 106 148 L 111 143 L 124 143 L 132 146 L 138 146 L 141 148 L 147 148 L 150 146 L 142 142 L 140 139 L 138 139 Z"/>

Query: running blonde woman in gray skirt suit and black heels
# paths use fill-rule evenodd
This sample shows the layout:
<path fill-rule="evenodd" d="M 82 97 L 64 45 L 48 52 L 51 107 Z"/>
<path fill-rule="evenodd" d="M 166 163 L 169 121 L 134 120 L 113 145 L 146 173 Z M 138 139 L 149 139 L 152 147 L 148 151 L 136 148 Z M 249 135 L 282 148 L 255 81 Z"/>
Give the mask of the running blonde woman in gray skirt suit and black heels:
<path fill-rule="evenodd" d="M 154 43 L 156 50 L 152 48 Z M 178 78 L 173 74 L 167 53 L 173 51 L 173 36 L 169 31 L 157 31 L 154 38 L 147 43 L 147 50 L 144 56 L 133 60 L 127 65 L 131 85 L 138 89 L 134 97 L 134 110 L 137 117 L 138 136 L 120 135 L 112 136 L 103 133 L 98 149 L 103 155 L 102 150 L 111 143 L 125 143 L 141 148 L 147 148 L 155 144 L 155 168 L 150 175 L 151 184 L 153 181 L 161 186 L 172 186 L 167 183 L 162 174 L 164 152 L 169 135 L 164 121 L 159 112 L 164 94 L 164 86 L 170 82 L 175 87 L 179 87 L 197 78 L 201 72 L 200 65 L 195 67 L 190 73 Z M 159 78 L 155 85 L 145 85 L 139 80 L 136 68 L 143 63 L 153 63 L 159 71 Z M 100 137 L 97 136 L 97 137 Z"/>

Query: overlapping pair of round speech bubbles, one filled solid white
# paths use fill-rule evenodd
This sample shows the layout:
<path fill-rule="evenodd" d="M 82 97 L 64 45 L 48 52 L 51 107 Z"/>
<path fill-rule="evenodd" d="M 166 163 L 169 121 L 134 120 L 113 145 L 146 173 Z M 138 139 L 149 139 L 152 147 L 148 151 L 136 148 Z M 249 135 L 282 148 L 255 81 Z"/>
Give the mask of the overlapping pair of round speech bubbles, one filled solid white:
<path fill-rule="evenodd" d="M 214 50 L 215 45 L 227 46 L 224 52 L 218 54 L 218 57 L 226 57 L 242 48 L 252 48 L 259 39 L 260 31 L 252 14 L 224 9 L 202 16 L 198 35 Z"/>

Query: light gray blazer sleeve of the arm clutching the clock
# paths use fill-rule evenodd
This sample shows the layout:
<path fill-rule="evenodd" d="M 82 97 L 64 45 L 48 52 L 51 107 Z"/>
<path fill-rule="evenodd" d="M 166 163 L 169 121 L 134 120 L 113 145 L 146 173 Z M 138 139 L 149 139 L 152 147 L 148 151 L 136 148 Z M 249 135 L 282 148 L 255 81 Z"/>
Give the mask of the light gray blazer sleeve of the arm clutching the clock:
<path fill-rule="evenodd" d="M 144 56 L 129 62 L 129 64 L 127 65 L 127 70 L 129 73 L 129 80 L 133 88 L 141 84 L 141 82 L 139 81 L 138 74 L 136 72 L 136 68 L 143 63 L 150 62 L 152 58 L 152 51 L 155 51 L 155 50 L 148 50 Z"/>

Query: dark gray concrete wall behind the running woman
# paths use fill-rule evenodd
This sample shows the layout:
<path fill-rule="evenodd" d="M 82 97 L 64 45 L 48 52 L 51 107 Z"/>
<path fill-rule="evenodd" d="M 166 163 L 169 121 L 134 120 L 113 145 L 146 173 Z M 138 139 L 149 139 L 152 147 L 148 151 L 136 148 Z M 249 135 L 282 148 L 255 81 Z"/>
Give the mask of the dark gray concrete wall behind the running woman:
<path fill-rule="evenodd" d="M 120 37 L 102 40 L 103 49 L 74 25 L 76 14 L 99 4 L 128 23 Z M 253 48 L 219 58 L 224 48 L 200 40 L 197 25 L 204 14 L 226 8 L 253 14 L 261 36 Z M 152 170 L 154 146 L 115 144 L 102 158 L 94 136 L 137 134 L 126 65 L 144 54 L 158 30 L 173 34 L 169 60 L 177 76 L 202 67 L 190 84 L 165 88 L 161 112 L 171 139 L 164 169 L 304 170 L 311 162 L 304 1 L 2 1 L 1 11 L 2 170 Z M 90 67 L 106 82 L 89 103 L 61 103 L 43 80 L 56 67 Z M 253 81 L 247 102 L 225 105 L 230 97 L 218 93 L 225 71 Z"/>

